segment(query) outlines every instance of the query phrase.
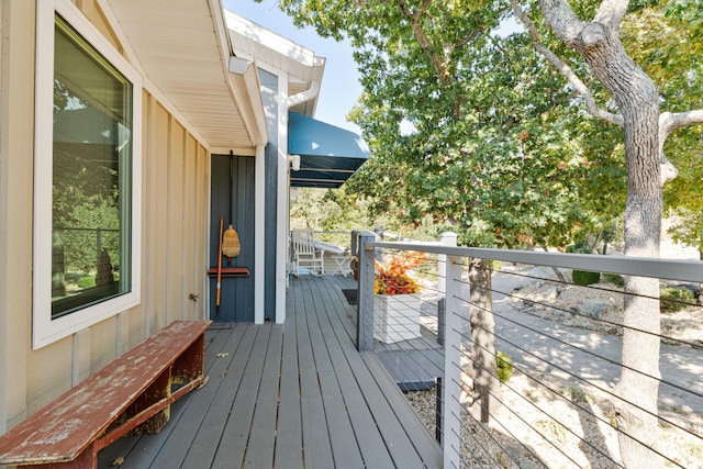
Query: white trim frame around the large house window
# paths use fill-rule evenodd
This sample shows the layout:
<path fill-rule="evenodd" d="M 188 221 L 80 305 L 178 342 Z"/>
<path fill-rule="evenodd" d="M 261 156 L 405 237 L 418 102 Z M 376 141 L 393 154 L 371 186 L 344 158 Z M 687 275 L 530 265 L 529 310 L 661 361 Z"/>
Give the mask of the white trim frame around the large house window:
<path fill-rule="evenodd" d="M 52 320 L 52 183 L 54 31 L 59 14 L 132 83 L 132 259 L 124 294 Z M 141 302 L 142 77 L 68 0 L 37 2 L 34 108 L 34 231 L 32 348 L 45 347 Z"/>

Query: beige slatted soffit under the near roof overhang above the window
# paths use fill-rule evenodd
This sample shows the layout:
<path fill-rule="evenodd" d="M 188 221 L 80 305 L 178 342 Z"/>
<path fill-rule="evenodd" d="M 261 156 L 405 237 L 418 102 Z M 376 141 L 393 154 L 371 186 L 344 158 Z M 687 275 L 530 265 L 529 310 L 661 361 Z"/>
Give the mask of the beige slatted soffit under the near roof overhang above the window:
<path fill-rule="evenodd" d="M 146 78 L 212 150 L 261 143 L 266 131 L 253 114 L 263 115 L 260 94 L 227 70 L 221 0 L 105 1 Z"/>

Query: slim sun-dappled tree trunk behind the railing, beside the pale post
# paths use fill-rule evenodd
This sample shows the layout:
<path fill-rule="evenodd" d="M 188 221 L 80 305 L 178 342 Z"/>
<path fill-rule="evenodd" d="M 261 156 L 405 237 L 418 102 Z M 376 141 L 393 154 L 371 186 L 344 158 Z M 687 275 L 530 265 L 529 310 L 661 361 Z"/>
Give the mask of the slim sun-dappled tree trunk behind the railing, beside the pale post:
<path fill-rule="evenodd" d="M 471 324 L 471 366 L 473 392 L 478 409 L 473 414 L 488 423 L 500 406 L 500 381 L 495 362 L 495 320 L 491 293 L 492 264 L 490 260 L 469 260 L 471 289 L 469 323 Z M 477 415 L 478 413 L 478 415 Z"/>

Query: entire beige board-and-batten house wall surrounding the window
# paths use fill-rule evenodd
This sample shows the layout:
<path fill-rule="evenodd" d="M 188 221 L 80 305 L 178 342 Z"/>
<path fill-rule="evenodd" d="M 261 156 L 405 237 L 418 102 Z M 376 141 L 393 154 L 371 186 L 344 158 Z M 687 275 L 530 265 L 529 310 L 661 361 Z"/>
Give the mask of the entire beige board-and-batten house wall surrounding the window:
<path fill-rule="evenodd" d="M 110 34 L 93 1 L 76 4 Z M 0 0 L 0 8 L 3 433 L 169 322 L 204 317 L 210 170 L 205 146 L 143 90 L 141 304 L 32 350 L 35 2 Z"/>

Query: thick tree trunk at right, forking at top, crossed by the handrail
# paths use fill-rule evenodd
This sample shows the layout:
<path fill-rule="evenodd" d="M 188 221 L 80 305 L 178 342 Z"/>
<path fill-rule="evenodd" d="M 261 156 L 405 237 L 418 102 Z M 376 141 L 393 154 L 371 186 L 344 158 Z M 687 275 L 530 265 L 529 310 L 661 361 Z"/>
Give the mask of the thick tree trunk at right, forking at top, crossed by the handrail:
<path fill-rule="evenodd" d="M 553 31 L 584 58 L 623 115 L 628 175 L 625 255 L 659 257 L 659 94 L 620 41 L 627 1 L 603 2 L 590 23 L 581 22 L 563 0 L 542 0 L 542 8 Z M 648 449 L 658 446 L 659 280 L 629 277 L 625 291 L 623 370 L 615 389 L 618 443 L 626 468 L 654 469 L 663 467 Z"/>

